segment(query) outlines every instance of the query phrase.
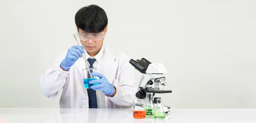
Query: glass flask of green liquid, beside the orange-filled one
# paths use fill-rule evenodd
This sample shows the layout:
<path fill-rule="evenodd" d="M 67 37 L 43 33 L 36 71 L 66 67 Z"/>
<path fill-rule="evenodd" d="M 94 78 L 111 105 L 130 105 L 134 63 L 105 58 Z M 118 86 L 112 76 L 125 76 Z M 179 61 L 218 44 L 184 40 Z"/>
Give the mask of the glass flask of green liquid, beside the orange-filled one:
<path fill-rule="evenodd" d="M 153 93 L 147 93 L 147 105 L 145 107 L 146 116 L 153 117 L 155 115 L 155 106 L 153 104 Z"/>

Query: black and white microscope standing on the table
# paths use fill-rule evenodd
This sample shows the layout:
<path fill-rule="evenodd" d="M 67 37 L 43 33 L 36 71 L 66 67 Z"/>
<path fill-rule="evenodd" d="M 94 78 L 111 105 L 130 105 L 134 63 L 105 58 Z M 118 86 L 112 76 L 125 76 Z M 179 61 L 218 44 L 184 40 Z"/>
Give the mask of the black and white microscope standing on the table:
<path fill-rule="evenodd" d="M 136 92 L 136 97 L 139 99 L 145 99 L 149 102 L 153 100 L 155 93 L 172 93 L 169 90 L 160 90 L 159 85 L 166 86 L 165 77 L 167 71 L 162 63 L 151 63 L 146 58 L 137 59 L 136 61 L 130 59 L 129 63 L 142 74 L 139 81 L 139 89 Z M 153 85 L 154 84 L 154 85 Z M 153 85 L 153 87 L 152 87 Z M 155 97 L 154 101 L 156 102 Z M 164 106 L 164 112 L 168 113 L 170 107 Z"/>

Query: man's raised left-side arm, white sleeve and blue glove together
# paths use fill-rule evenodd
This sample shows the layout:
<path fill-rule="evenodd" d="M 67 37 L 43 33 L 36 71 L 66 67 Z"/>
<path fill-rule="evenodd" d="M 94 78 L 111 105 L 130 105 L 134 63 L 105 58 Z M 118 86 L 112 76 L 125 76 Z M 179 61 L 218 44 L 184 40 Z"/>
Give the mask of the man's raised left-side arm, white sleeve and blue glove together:
<path fill-rule="evenodd" d="M 66 83 L 68 70 L 82 57 L 83 46 L 72 46 L 66 54 L 62 52 L 54 61 L 54 66 L 49 68 L 41 77 L 41 89 L 45 96 L 56 97 L 60 94 Z"/>

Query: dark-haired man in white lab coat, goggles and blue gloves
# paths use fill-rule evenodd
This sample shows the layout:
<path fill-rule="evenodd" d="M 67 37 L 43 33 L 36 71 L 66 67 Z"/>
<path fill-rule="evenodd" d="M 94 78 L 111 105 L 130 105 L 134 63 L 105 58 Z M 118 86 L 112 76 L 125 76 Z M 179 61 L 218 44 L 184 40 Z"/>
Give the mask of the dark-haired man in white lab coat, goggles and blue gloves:
<path fill-rule="evenodd" d="M 135 95 L 133 68 L 126 54 L 103 43 L 108 30 L 105 11 L 96 5 L 83 7 L 75 15 L 75 23 L 82 46 L 73 46 L 56 58 L 41 77 L 43 94 L 56 97 L 63 89 L 60 108 L 130 108 Z M 81 70 L 86 64 L 82 53 L 98 72 L 92 73 L 99 77 L 90 81 L 98 84 L 92 89 L 83 85 Z"/>

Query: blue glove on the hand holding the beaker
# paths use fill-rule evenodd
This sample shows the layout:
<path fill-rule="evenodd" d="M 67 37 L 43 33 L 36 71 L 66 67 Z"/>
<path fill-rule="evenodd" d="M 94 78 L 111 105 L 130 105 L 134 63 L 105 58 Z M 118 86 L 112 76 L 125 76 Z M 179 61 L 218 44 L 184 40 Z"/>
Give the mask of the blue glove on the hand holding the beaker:
<path fill-rule="evenodd" d="M 91 86 L 93 90 L 100 90 L 107 95 L 112 95 L 115 92 L 114 86 L 109 83 L 107 78 L 100 73 L 92 73 L 92 76 L 98 76 L 99 79 L 91 80 L 90 84 L 98 84 Z"/>

